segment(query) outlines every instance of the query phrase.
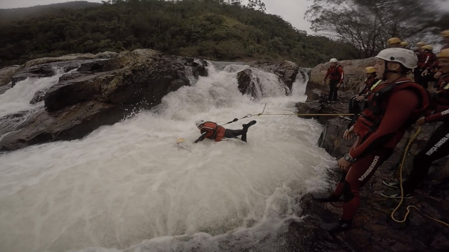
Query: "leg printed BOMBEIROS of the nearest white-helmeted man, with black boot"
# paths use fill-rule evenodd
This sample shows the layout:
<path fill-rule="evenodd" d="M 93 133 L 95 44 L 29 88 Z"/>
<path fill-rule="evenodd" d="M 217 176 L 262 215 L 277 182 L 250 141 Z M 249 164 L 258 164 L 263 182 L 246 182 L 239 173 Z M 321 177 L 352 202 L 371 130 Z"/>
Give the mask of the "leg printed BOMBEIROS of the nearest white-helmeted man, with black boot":
<path fill-rule="evenodd" d="M 368 181 L 379 166 L 391 156 L 390 149 L 377 149 L 371 154 L 357 159 L 342 183 L 343 215 L 339 221 L 323 223 L 320 227 L 329 232 L 344 231 L 351 227 L 354 215 L 360 205 L 360 187 Z"/>

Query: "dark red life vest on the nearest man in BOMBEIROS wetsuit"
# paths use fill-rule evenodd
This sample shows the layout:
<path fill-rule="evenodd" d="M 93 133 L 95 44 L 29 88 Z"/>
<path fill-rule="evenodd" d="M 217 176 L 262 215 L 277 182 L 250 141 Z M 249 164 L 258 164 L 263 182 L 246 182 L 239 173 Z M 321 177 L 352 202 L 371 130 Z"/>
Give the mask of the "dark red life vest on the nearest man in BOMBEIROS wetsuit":
<path fill-rule="evenodd" d="M 380 122 L 386 112 L 388 97 L 402 89 L 413 90 L 418 95 L 419 106 L 413 110 L 410 117 L 398 132 L 405 133 L 405 131 L 427 111 L 430 99 L 426 89 L 410 80 L 399 81 L 392 84 L 388 84 L 384 81 L 371 91 L 368 96 L 368 101 L 365 104 L 362 104 L 362 114 L 357 119 L 356 124 L 354 124 L 354 133 L 359 135 L 362 142 L 379 128 Z M 393 142 L 399 142 L 402 136 L 403 135 L 401 135 L 399 139 L 393 140 Z M 393 145 L 395 146 L 396 144 L 397 143 L 394 143 Z"/>

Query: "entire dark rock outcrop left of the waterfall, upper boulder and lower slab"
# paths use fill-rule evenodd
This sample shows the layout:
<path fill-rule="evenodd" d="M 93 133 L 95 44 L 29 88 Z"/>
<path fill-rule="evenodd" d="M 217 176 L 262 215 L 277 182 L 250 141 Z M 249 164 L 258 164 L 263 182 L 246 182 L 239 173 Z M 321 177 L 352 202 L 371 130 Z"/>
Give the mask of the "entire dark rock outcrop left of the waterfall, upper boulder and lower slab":
<path fill-rule="evenodd" d="M 84 56 L 62 57 L 74 61 L 42 59 L 16 74 L 16 81 L 27 77 L 47 77 L 55 67 L 66 73 L 48 90 L 41 90 L 31 101 L 44 97 L 46 110 L 24 111 L 0 118 L 0 150 L 17 150 L 29 145 L 57 140 L 79 139 L 103 124 L 124 118 L 124 111 L 140 111 L 161 102 L 168 92 L 191 85 L 207 74 L 205 61 L 163 56 L 148 49 L 122 52 L 105 59 L 79 60 Z M 77 71 L 71 71 L 73 69 Z"/>

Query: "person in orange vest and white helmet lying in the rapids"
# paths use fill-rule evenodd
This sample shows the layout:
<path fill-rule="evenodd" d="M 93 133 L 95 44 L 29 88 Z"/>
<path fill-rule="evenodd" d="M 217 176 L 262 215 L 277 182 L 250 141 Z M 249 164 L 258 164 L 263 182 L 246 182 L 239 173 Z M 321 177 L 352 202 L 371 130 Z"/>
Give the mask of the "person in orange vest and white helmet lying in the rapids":
<path fill-rule="evenodd" d="M 240 140 L 246 141 L 246 134 L 248 132 L 248 128 L 251 127 L 251 125 L 256 124 L 255 120 L 252 120 L 246 124 L 243 124 L 242 130 L 230 130 L 225 129 L 225 127 L 222 127 L 215 122 L 212 121 L 204 121 L 202 118 L 199 118 L 195 121 L 196 128 L 201 132 L 201 136 L 193 142 L 194 144 L 203 141 L 204 139 L 211 139 L 215 140 L 215 142 L 221 141 L 223 138 L 238 138 L 238 136 L 242 136 Z"/>

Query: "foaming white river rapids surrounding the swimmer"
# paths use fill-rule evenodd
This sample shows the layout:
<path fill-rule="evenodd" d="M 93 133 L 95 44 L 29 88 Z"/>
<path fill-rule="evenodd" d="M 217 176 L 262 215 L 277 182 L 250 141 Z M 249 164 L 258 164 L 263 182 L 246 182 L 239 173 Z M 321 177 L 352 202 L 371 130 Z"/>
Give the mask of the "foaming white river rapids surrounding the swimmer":
<path fill-rule="evenodd" d="M 265 104 L 265 113 L 292 114 L 305 100 L 307 79 L 298 74 L 286 96 L 278 78 L 259 69 L 252 70 L 265 97 L 241 94 L 236 76 L 246 68 L 209 66 L 208 77 L 157 107 L 81 140 L 0 155 L 0 251 L 232 251 L 248 243 L 270 251 L 258 244 L 275 246 L 270 234 L 302 221 L 301 195 L 329 187 L 334 160 L 317 146 L 321 125 L 289 115 L 225 126 L 257 120 L 248 143 L 191 144 L 199 117 L 222 124 Z M 42 107 L 25 101 L 58 78 L 19 82 L 0 95 L 0 113 Z M 178 138 L 186 139 L 182 148 Z"/>

